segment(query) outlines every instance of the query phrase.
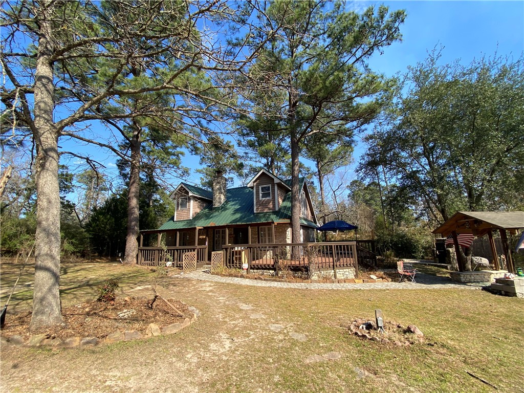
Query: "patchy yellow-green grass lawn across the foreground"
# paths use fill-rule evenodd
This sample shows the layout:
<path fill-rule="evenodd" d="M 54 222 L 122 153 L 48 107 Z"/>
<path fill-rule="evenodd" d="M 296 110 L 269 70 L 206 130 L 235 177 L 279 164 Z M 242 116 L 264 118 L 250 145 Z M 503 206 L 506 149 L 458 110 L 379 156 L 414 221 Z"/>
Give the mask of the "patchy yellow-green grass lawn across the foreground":
<path fill-rule="evenodd" d="M 466 372 L 499 391 L 524 391 L 522 299 L 471 289 L 302 290 L 158 280 L 148 269 L 119 264 L 64 266 L 63 303 L 94 299 L 96 285 L 111 276 L 121 282 L 122 294 L 156 282 L 159 292 L 194 305 L 201 315 L 176 335 L 148 340 L 54 350 L 3 346 L 2 391 L 495 390 Z M 16 279 L 4 269 L 3 301 L 5 286 Z M 18 309 L 27 308 L 30 292 L 21 292 Z M 353 320 L 372 319 L 376 308 L 385 320 L 417 325 L 424 343 L 398 347 L 348 333 Z M 282 330 L 272 331 L 272 324 Z M 341 357 L 306 362 L 330 352 Z"/>

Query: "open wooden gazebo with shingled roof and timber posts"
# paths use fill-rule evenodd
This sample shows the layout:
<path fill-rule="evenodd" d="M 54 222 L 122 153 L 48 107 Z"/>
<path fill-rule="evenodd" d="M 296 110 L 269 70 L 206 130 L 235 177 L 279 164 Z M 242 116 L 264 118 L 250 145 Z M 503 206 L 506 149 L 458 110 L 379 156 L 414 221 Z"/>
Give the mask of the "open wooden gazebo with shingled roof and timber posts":
<path fill-rule="evenodd" d="M 453 236 L 453 244 L 459 262 L 459 270 L 464 271 L 464 266 L 458 257 L 460 255 L 460 246 L 457 240 L 457 234 L 470 233 L 477 237 L 488 235 L 489 244 L 492 249 L 493 262 L 495 269 L 499 270 L 497 249 L 493 240 L 493 231 L 500 232 L 500 239 L 503 245 L 503 252 L 506 256 L 508 271 L 515 273 L 515 265 L 511 258 L 511 249 L 508 243 L 506 231 L 515 234 L 519 229 L 524 228 L 524 212 L 456 212 L 451 219 L 433 231 L 435 234 L 441 234 L 442 237 Z"/>

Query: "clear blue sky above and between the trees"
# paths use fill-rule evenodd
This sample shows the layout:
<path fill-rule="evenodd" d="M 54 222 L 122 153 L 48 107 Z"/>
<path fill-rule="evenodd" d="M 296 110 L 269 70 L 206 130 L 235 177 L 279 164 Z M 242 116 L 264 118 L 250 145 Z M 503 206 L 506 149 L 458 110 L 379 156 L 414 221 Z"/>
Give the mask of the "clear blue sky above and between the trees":
<path fill-rule="evenodd" d="M 346 8 L 362 11 L 369 5 L 386 4 L 390 10 L 405 9 L 406 22 L 401 26 L 403 39 L 370 60 L 370 66 L 377 72 L 392 76 L 405 72 L 408 65 L 414 65 L 427 57 L 428 51 L 436 45 L 442 46 L 441 62 L 448 63 L 461 59 L 468 64 L 474 58 L 486 54 L 518 58 L 524 50 L 524 2 L 504 1 L 393 1 L 393 2 L 347 2 Z M 99 130 L 103 132 L 103 130 Z M 355 176 L 358 157 L 365 146 L 357 137 L 355 163 L 347 171 L 346 180 Z M 81 148 L 82 150 L 87 147 Z M 108 168 L 115 170 L 115 157 L 92 147 L 89 148 Z M 198 168 L 198 158 L 186 157 L 184 165 Z M 193 172 L 187 179 L 199 183 L 199 174 Z M 173 187 L 178 180 L 173 179 Z"/>

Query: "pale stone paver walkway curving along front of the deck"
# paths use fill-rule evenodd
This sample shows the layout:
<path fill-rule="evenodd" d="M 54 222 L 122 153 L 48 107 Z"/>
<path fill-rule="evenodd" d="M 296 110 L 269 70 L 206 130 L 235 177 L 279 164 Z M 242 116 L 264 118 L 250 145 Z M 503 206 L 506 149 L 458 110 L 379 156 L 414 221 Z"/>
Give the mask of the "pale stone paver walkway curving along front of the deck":
<path fill-rule="evenodd" d="M 417 283 L 414 282 L 374 282 L 374 283 L 298 283 L 298 282 L 274 282 L 250 280 L 236 277 L 214 276 L 206 273 L 205 270 L 193 271 L 173 276 L 177 279 L 193 279 L 203 281 L 224 282 L 238 285 L 250 285 L 255 287 L 278 287 L 278 288 L 297 288 L 297 289 L 480 289 L 487 283 L 463 284 L 451 281 L 447 277 L 438 277 L 418 273 Z"/>

